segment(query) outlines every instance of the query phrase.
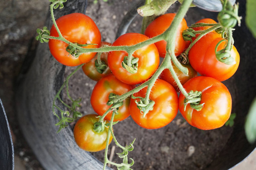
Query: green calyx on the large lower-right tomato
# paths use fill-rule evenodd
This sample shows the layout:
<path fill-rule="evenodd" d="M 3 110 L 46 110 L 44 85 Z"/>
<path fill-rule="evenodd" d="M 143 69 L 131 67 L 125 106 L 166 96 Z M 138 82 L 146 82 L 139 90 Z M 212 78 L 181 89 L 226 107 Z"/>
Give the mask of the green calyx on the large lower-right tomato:
<path fill-rule="evenodd" d="M 192 109 L 196 111 L 201 111 L 204 103 L 200 104 L 202 92 L 201 91 L 193 91 L 191 90 L 188 93 L 188 97 L 184 99 L 184 111 L 186 111 L 187 104 L 190 104 Z"/>

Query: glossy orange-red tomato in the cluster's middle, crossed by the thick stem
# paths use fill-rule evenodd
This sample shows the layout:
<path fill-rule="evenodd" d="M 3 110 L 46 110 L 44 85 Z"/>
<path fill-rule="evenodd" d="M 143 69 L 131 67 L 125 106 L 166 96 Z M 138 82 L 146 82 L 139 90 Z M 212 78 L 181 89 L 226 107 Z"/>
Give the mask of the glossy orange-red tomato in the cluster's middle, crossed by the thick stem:
<path fill-rule="evenodd" d="M 149 37 L 140 33 L 126 33 L 116 39 L 112 46 L 131 46 L 148 39 Z M 135 74 L 129 73 L 122 66 L 121 63 L 125 56 L 128 56 L 125 51 L 108 53 L 108 66 L 117 79 L 127 84 L 138 84 L 150 78 L 157 70 L 160 62 L 158 50 L 154 44 L 146 45 L 132 54 L 133 57 L 139 58 L 138 70 Z"/>

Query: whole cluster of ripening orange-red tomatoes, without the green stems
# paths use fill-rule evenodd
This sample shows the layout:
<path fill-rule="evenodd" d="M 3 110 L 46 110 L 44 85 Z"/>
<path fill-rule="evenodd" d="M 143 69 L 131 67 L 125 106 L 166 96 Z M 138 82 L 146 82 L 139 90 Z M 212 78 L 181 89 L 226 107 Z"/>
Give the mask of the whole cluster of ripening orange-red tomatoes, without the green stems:
<path fill-rule="evenodd" d="M 165 14 L 158 17 L 148 25 L 145 35 L 141 33 L 126 33 L 121 35 L 112 44 L 101 42 L 101 36 L 96 24 L 88 16 L 83 14 L 69 14 L 56 20 L 58 29 L 62 36 L 77 45 L 89 44 L 83 48 L 99 48 L 100 46 L 131 46 L 146 41 L 154 36 L 160 35 L 169 28 L 175 14 Z M 67 24 L 68 23 L 68 24 Z M 203 19 L 198 23 L 216 23 L 212 19 Z M 195 27 L 195 31 L 205 30 L 209 27 Z M 175 56 L 179 56 L 190 45 L 190 41 L 185 41 L 182 32 L 188 29 L 186 20 L 183 19 L 178 27 L 175 40 Z M 51 36 L 58 36 L 56 28 L 51 29 Z M 183 65 L 187 67 L 188 74 L 183 74 L 177 67 L 174 67 L 183 88 L 189 93 L 191 91 L 202 92 L 200 104 L 203 108 L 196 111 L 186 104 L 186 97 L 181 93 L 178 96 L 179 87 L 175 83 L 169 69 L 162 71 L 160 77 L 154 83 L 149 100 L 154 101 L 153 109 L 144 116 L 138 107 L 141 99 L 147 94 L 148 87 L 142 88 L 127 97 L 123 101 L 114 121 L 122 121 L 131 115 L 133 120 L 143 128 L 157 129 L 169 124 L 177 115 L 178 109 L 189 124 L 196 128 L 209 130 L 220 128 L 229 119 L 232 109 L 232 98 L 228 88 L 221 81 L 230 78 L 237 70 L 240 57 L 233 46 L 230 50 L 231 57 L 236 61 L 233 65 L 227 65 L 216 59 L 216 44 L 223 39 L 215 31 L 203 36 L 188 53 L 189 63 Z M 217 50 L 223 49 L 226 41 L 217 46 Z M 97 66 L 98 59 L 96 53 L 83 53 L 79 57 L 70 55 L 66 50 L 68 44 L 59 40 L 49 40 L 49 48 L 54 58 L 66 66 L 78 66 L 82 63 L 84 73 L 97 83 L 91 95 L 91 105 L 94 111 L 102 116 L 111 105 L 107 105 L 110 95 L 123 95 L 133 88 L 146 82 L 156 72 L 160 63 L 160 57 L 166 55 L 166 41 L 162 40 L 155 44 L 146 45 L 132 54 L 137 67 L 136 73 L 130 73 L 122 65 L 128 53 L 114 50 L 109 53 L 100 54 L 102 65 Z M 79 52 L 78 52 L 79 53 Z M 139 60 L 136 60 L 139 58 Z M 133 60 L 132 60 L 133 61 Z M 96 64 L 95 64 L 96 62 Z M 104 67 L 104 69 L 100 67 Z M 198 76 L 198 73 L 202 76 Z M 105 120 L 110 121 L 112 111 Z M 98 151 L 106 147 L 108 128 L 97 133 L 94 131 L 94 124 L 99 118 L 96 114 L 86 115 L 77 121 L 74 128 L 74 138 L 78 146 L 86 151 Z M 111 141 L 112 137 L 110 138 Z"/>

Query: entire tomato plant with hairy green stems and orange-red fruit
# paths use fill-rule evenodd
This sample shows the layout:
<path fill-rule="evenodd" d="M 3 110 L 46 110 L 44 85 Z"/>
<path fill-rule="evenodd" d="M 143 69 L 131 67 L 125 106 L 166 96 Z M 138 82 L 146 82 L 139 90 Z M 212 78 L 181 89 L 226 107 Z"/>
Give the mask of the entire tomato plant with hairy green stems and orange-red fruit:
<path fill-rule="evenodd" d="M 86 115 L 78 120 L 74 138 L 78 146 L 86 151 L 99 151 L 106 147 L 103 169 L 107 164 L 115 165 L 117 169 L 131 169 L 134 163 L 128 159 L 134 141 L 121 146 L 112 131 L 113 125 L 130 114 L 139 126 L 146 129 L 166 126 L 177 115 L 178 109 L 189 124 L 203 130 L 220 128 L 228 120 L 232 99 L 220 81 L 230 78 L 240 62 L 232 40 L 233 25 L 240 24 L 237 6 L 221 1 L 223 11 L 218 15 L 219 23 L 203 19 L 197 22 L 201 24 L 188 28 L 184 16 L 192 0 L 182 1 L 177 14 L 164 14 L 174 1 L 146 1 L 137 10 L 140 15 L 145 15 L 141 29 L 145 30 L 145 35 L 125 33 L 112 45 L 99 47 L 100 32 L 93 20 L 78 13 L 55 20 L 53 9 L 62 8 L 66 0 L 51 2 L 51 32 L 47 27 L 37 29 L 39 36 L 36 39 L 49 41 L 49 48 L 57 61 L 66 66 L 79 65 L 67 76 L 54 97 L 53 113 L 59 121 L 56 125 L 61 130 L 82 116 L 76 110 L 81 99 L 73 99 L 68 92 L 70 77 L 82 67 L 86 75 L 98 80 L 90 101 L 99 116 Z M 159 17 L 154 19 L 156 16 Z M 216 32 L 221 32 L 225 39 Z M 93 58 L 96 53 L 98 55 Z M 187 56 L 191 66 L 179 62 L 183 58 L 181 62 L 188 63 Z M 160 57 L 165 57 L 161 65 Z M 107 66 L 112 74 L 105 70 Z M 196 71 L 207 76 L 196 76 Z M 71 105 L 61 99 L 64 87 Z M 175 90 L 181 92 L 179 97 Z M 62 111 L 56 100 L 68 111 Z M 106 124 L 106 120 L 110 122 Z M 107 130 L 106 126 L 111 130 Z M 120 164 L 107 158 L 112 138 L 116 146 L 123 150 L 118 154 L 123 159 Z"/>

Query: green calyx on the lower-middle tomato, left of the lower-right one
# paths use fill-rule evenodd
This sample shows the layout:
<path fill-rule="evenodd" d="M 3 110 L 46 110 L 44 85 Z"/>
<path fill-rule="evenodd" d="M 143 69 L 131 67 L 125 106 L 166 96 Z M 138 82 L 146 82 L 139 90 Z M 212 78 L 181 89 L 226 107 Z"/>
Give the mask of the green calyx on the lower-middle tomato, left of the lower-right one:
<path fill-rule="evenodd" d="M 137 108 L 140 109 L 140 113 L 143 114 L 143 118 L 148 114 L 149 111 L 153 111 L 153 106 L 155 102 L 153 100 L 146 100 L 143 97 L 135 97 L 132 95 L 132 99 L 140 99 L 140 101 L 135 100 Z"/>

